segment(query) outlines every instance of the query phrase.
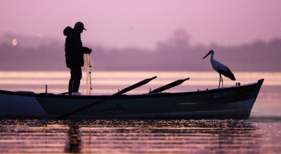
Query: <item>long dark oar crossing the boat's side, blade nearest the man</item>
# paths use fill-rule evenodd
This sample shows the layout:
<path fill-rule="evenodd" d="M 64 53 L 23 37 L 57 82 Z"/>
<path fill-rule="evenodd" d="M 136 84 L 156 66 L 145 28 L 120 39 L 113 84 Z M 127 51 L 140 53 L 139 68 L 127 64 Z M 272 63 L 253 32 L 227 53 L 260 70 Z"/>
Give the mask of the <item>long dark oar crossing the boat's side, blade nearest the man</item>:
<path fill-rule="evenodd" d="M 138 83 L 136 83 L 136 84 L 133 84 L 133 85 L 131 85 L 130 87 L 126 87 L 125 89 L 122 89 L 121 91 L 116 92 L 115 94 L 112 94 L 112 95 L 109 96 L 109 97 L 106 97 L 106 98 L 104 98 L 104 99 L 101 99 L 101 100 L 99 100 L 99 101 L 96 101 L 96 102 L 94 102 L 94 103 L 92 103 L 92 104 L 89 104 L 89 105 L 87 105 L 87 106 L 84 106 L 84 107 L 82 107 L 82 108 L 80 108 L 80 109 L 77 109 L 77 110 L 75 110 L 75 111 L 71 111 L 70 113 L 64 114 L 64 115 L 59 116 L 59 117 L 57 117 L 57 118 L 63 119 L 63 118 L 65 118 L 65 117 L 67 117 L 67 116 L 70 116 L 71 114 L 75 114 L 75 113 L 78 112 L 78 111 L 81 111 L 81 110 L 83 110 L 83 109 L 87 109 L 88 107 L 93 106 L 94 104 L 99 104 L 99 103 L 101 103 L 102 101 L 106 101 L 107 99 L 111 99 L 111 98 L 116 97 L 116 96 L 118 96 L 118 95 L 120 95 L 120 94 L 123 94 L 123 93 L 125 93 L 125 92 L 128 92 L 128 91 L 130 91 L 130 90 L 132 90 L 132 89 L 136 89 L 137 87 L 140 87 L 140 86 L 142 86 L 142 85 L 144 85 L 144 84 L 147 84 L 148 82 L 150 82 L 151 80 L 153 80 L 153 79 L 155 79 L 155 78 L 156 78 L 156 76 L 155 76 L 155 77 L 152 77 L 152 78 L 149 78 L 149 79 L 144 79 L 143 81 L 138 82 Z"/>

